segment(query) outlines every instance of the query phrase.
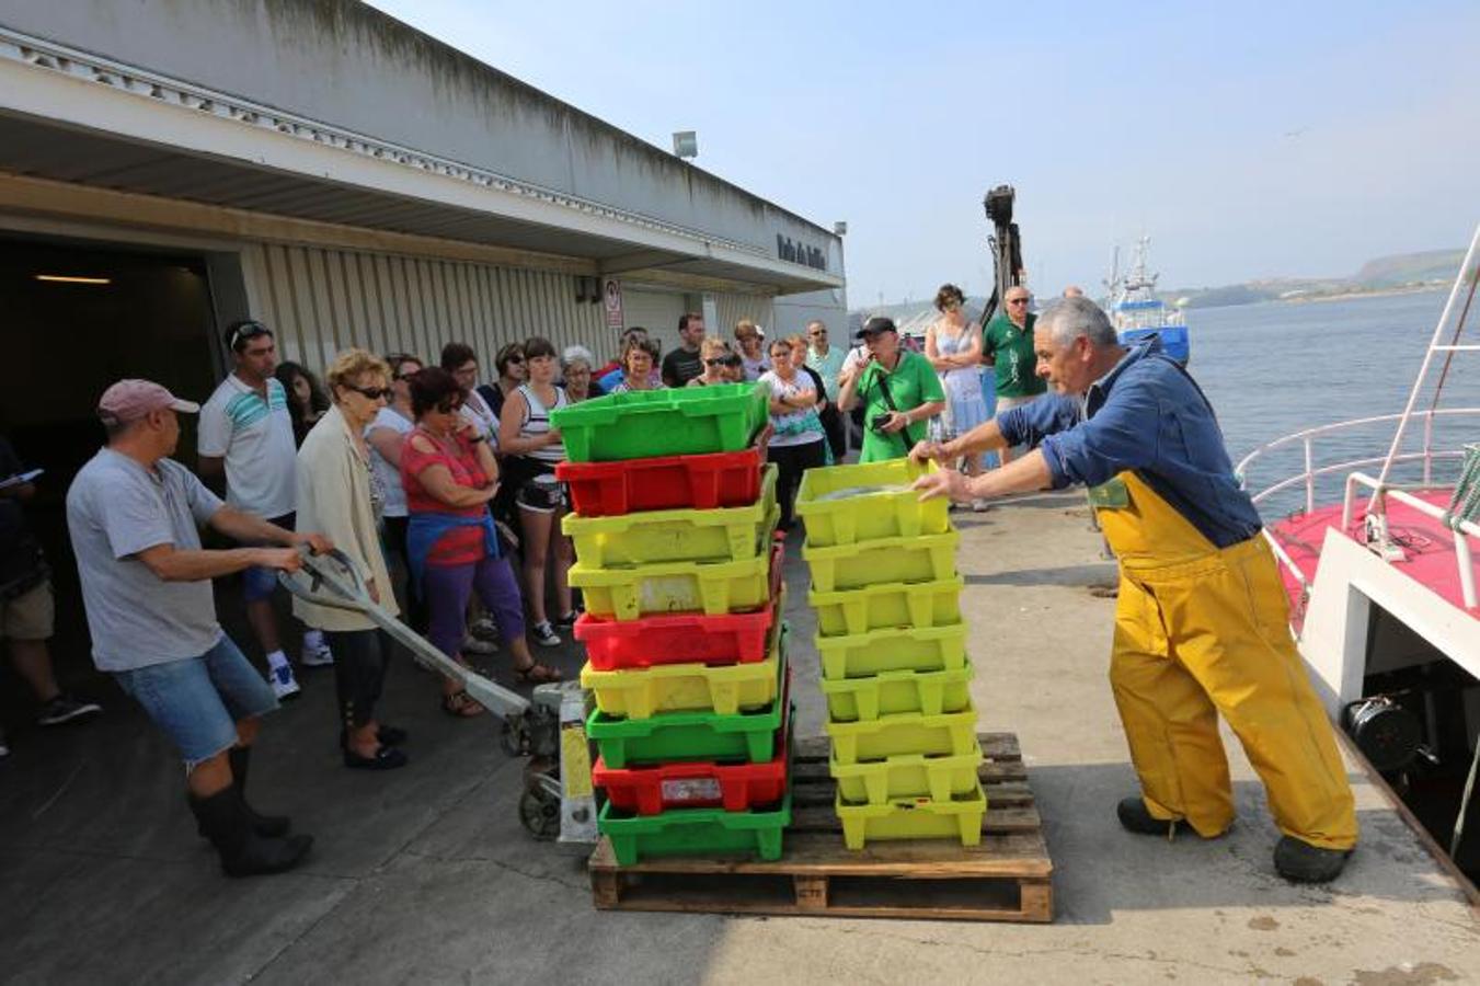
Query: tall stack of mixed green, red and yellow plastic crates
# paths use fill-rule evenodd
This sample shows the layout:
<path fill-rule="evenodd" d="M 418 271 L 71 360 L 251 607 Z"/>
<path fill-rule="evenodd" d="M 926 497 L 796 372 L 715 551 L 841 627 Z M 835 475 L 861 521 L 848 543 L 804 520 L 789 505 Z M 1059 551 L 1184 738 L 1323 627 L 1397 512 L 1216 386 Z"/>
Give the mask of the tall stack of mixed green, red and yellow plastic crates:
<path fill-rule="evenodd" d="M 586 613 L 586 733 L 620 865 L 781 854 L 789 681 L 776 469 L 756 385 L 614 394 L 552 416 L 568 462 L 570 582 Z"/>

